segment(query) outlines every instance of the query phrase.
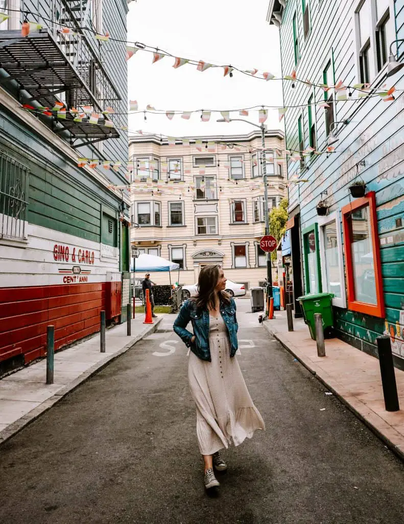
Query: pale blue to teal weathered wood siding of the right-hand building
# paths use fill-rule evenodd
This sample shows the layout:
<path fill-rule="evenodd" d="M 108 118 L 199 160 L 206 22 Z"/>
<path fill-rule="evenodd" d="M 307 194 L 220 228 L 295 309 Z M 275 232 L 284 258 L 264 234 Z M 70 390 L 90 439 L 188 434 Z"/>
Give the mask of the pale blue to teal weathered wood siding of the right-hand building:
<path fill-rule="evenodd" d="M 310 2 L 311 32 L 305 41 L 301 2 L 289 0 L 280 26 L 283 75 L 296 69 L 298 79 L 308 79 L 320 84 L 323 82 L 323 70 L 328 61 L 331 61 L 335 83 L 339 80 L 344 85 L 360 82 L 353 19 L 357 5 L 358 2 L 345 0 L 334 3 Z M 394 5 L 397 31 L 395 38 L 404 38 L 404 3 L 396 0 Z M 300 49 L 296 67 L 293 45 L 295 12 Z M 391 16 L 394 13 L 390 9 Z M 391 38 L 388 46 L 390 42 Z M 402 56 L 404 45 L 399 49 Z M 395 46 L 393 50 L 395 51 Z M 382 71 L 377 78 L 376 86 L 387 84 L 388 88 L 392 85 L 399 88 L 404 79 L 404 69 L 395 77 L 387 79 Z M 311 95 L 318 104 L 324 100 L 324 91 L 316 86 L 309 88 L 300 82 L 296 82 L 293 89 L 289 81 L 284 81 L 283 88 L 284 105 L 290 107 L 285 115 L 286 148 L 299 149 L 299 116 L 302 116 L 304 147 L 307 148 L 310 143 L 309 112 L 305 108 L 302 111 L 301 108 L 291 106 L 306 104 Z M 356 94 L 353 97 L 356 98 Z M 329 213 L 339 211 L 342 206 L 349 204 L 352 197 L 348 188 L 357 176 L 356 165 L 365 161 L 365 166 L 358 165 L 358 171 L 366 182 L 366 191 L 376 192 L 386 318 L 379 319 L 340 308 L 334 308 L 334 314 L 339 336 L 373 354 L 376 353 L 375 339 L 378 335 L 387 332 L 395 336 L 400 334 L 400 312 L 401 321 L 404 314 L 404 95 L 398 91 L 395 97 L 394 102 L 384 102 L 378 96 L 355 102 L 335 102 L 334 121 L 349 119 L 347 125 L 338 126 L 339 141 L 334 144 L 335 152 L 328 156 L 322 154 L 306 157 L 304 169 L 300 169 L 299 162 L 288 163 L 289 178 L 297 175 L 309 180 L 289 186 L 289 209 L 292 211 L 300 205 L 301 228 L 304 230 L 318 220 L 316 205 L 322 191 L 327 191 L 327 195 L 322 195 L 322 198 L 327 196 Z M 325 151 L 325 110 L 312 107 L 311 118 L 316 126 L 317 149 Z M 305 267 L 302 269 L 306 283 Z M 404 344 L 395 346 L 393 351 L 404 356 Z"/>

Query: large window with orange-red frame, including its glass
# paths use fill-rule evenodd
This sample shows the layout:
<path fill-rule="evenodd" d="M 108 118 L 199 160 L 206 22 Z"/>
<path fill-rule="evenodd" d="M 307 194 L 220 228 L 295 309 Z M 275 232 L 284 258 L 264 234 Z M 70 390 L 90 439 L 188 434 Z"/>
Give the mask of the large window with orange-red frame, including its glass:
<path fill-rule="evenodd" d="M 342 210 L 348 308 L 384 318 L 375 192 Z"/>

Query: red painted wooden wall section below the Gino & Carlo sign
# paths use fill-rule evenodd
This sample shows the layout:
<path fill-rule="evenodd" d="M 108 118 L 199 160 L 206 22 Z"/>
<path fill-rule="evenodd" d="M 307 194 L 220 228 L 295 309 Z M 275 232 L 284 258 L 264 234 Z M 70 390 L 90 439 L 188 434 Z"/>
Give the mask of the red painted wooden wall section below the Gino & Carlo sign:
<path fill-rule="evenodd" d="M 0 361 L 24 354 L 28 363 L 44 356 L 50 324 L 55 351 L 99 331 L 107 289 L 107 282 L 0 288 Z"/>

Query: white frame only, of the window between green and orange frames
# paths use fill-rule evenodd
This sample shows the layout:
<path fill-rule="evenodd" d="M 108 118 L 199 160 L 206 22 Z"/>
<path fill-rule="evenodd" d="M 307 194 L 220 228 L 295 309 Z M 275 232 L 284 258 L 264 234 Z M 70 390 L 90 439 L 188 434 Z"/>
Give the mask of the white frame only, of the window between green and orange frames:
<path fill-rule="evenodd" d="M 323 228 L 328 224 L 335 223 L 336 230 L 336 250 L 338 253 L 339 276 L 341 283 L 341 298 L 334 297 L 332 305 L 338 308 L 346 308 L 346 289 L 345 289 L 345 272 L 344 272 L 344 257 L 342 250 L 342 231 L 341 219 L 339 211 L 334 211 L 327 216 L 318 217 L 319 226 L 319 244 L 320 244 L 320 261 L 321 261 L 321 283 L 323 292 L 331 293 L 327 285 L 327 266 L 326 266 L 326 246 L 324 245 L 324 231 Z"/>

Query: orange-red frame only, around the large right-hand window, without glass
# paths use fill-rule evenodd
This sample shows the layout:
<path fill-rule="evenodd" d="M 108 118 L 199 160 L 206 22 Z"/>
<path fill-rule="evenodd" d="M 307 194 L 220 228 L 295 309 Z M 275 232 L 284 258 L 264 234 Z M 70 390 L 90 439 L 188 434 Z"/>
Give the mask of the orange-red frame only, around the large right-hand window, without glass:
<path fill-rule="evenodd" d="M 368 304 L 366 302 L 360 302 L 355 297 L 355 281 L 353 275 L 352 265 L 352 227 L 350 221 L 350 215 L 353 211 L 364 208 L 369 208 L 369 219 L 371 221 L 370 230 L 372 238 L 372 253 L 375 266 L 375 286 L 376 286 L 376 299 L 377 304 Z M 366 313 L 372 316 L 378 316 L 379 318 L 385 318 L 385 305 L 383 296 L 383 280 L 381 278 L 381 263 L 380 263 L 380 245 L 379 236 L 377 231 L 377 216 L 376 216 L 376 196 L 374 191 L 369 191 L 362 198 L 355 199 L 354 202 L 345 205 L 341 209 L 342 214 L 342 228 L 344 232 L 344 252 L 345 252 L 345 265 L 346 265 L 346 288 L 347 288 L 347 299 L 348 309 L 352 311 L 358 311 L 360 313 Z"/>

